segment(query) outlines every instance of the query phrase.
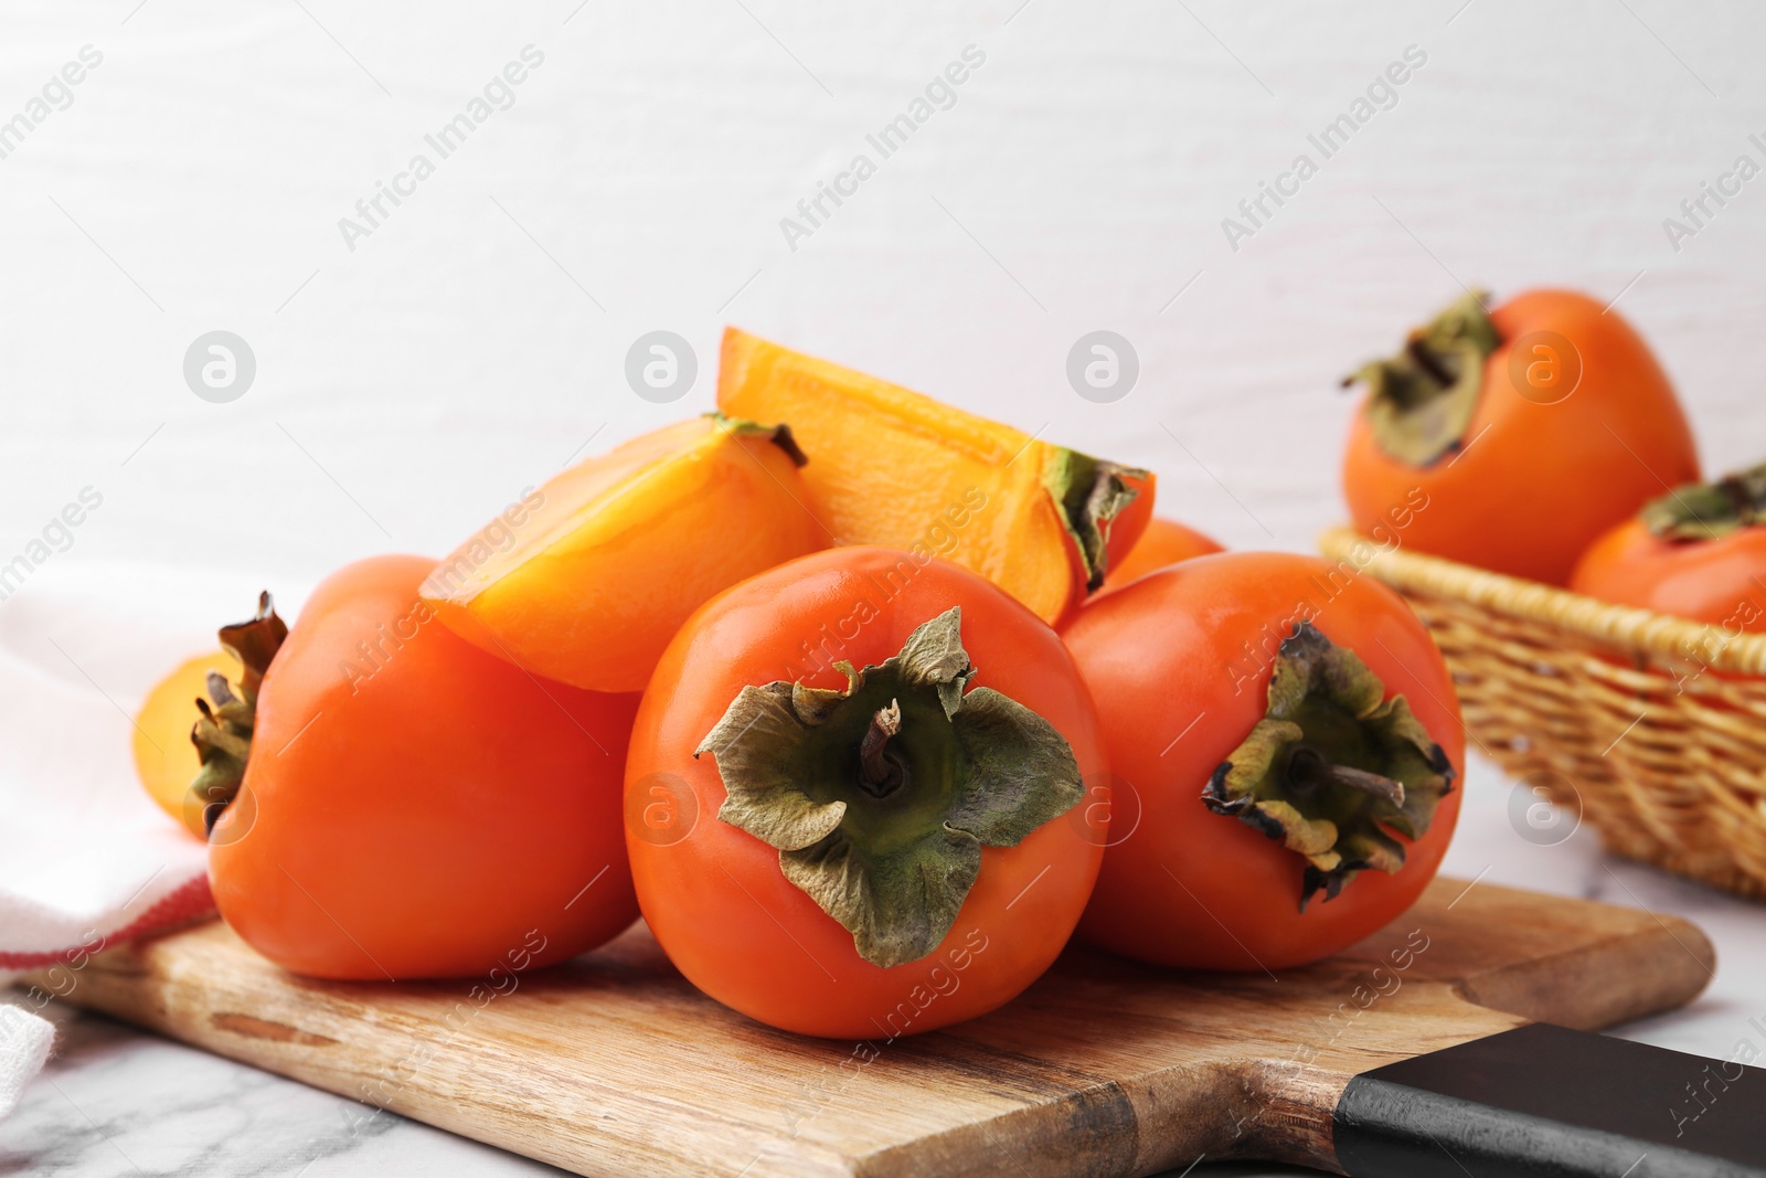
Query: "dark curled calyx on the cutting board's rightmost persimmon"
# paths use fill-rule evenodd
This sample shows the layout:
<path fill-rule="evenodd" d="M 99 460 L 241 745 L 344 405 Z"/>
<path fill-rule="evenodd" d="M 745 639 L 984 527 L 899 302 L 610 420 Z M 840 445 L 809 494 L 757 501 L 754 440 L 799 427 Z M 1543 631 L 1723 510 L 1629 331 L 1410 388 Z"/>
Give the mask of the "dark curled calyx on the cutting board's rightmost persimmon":
<path fill-rule="evenodd" d="M 1203 788 L 1203 804 L 1307 860 L 1300 910 L 1335 899 L 1356 872 L 1404 867 L 1406 839 L 1429 830 L 1453 791 L 1453 766 L 1353 650 L 1310 622 L 1282 639 L 1270 710 Z"/>

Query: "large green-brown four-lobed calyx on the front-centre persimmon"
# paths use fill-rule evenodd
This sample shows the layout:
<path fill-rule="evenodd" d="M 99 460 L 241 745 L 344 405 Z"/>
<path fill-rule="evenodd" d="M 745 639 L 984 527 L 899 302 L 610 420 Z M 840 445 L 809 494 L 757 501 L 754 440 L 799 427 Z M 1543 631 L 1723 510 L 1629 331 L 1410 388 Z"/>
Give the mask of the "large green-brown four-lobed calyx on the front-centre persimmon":
<path fill-rule="evenodd" d="M 743 687 L 710 752 L 721 821 L 779 850 L 779 869 L 888 968 L 938 948 L 984 846 L 1017 846 L 1084 797 L 1053 724 L 975 676 L 961 609 L 881 666 L 839 662 L 844 689 Z"/>

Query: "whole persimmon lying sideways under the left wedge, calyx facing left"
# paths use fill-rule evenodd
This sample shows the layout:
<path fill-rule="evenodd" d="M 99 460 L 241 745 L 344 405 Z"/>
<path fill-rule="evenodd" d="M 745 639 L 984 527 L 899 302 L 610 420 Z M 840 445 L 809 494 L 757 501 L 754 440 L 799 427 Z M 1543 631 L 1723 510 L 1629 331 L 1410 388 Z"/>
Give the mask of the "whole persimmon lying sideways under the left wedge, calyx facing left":
<path fill-rule="evenodd" d="M 620 823 L 636 698 L 461 639 L 417 593 L 433 567 L 346 565 L 290 631 L 265 595 L 226 641 L 245 682 L 198 721 L 215 904 L 295 973 L 494 982 L 638 917 Z"/>

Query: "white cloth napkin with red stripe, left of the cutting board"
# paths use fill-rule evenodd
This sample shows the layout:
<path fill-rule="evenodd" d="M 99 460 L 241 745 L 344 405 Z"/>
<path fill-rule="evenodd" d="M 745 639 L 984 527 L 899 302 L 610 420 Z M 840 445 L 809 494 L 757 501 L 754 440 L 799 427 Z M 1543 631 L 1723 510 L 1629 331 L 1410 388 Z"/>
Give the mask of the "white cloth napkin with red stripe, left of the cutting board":
<path fill-rule="evenodd" d="M 55 1037 L 32 1008 L 74 993 L 97 947 L 214 906 L 207 846 L 136 781 L 132 717 L 159 678 L 215 648 L 219 625 L 251 616 L 260 588 L 284 618 L 306 595 L 55 556 L 0 581 L 0 984 L 46 971 L 0 1007 L 0 1116 Z"/>

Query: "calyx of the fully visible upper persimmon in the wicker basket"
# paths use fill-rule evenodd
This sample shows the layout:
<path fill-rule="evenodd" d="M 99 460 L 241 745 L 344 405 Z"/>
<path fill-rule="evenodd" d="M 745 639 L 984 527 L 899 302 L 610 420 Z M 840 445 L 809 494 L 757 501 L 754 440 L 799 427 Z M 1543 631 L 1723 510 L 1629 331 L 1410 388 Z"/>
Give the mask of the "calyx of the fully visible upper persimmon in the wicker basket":
<path fill-rule="evenodd" d="M 1365 383 L 1367 424 L 1390 457 L 1429 466 L 1455 449 L 1471 426 L 1483 387 L 1483 362 L 1501 337 L 1485 291 L 1468 291 L 1429 323 L 1411 328 L 1404 348 L 1370 360 L 1342 385 Z"/>

